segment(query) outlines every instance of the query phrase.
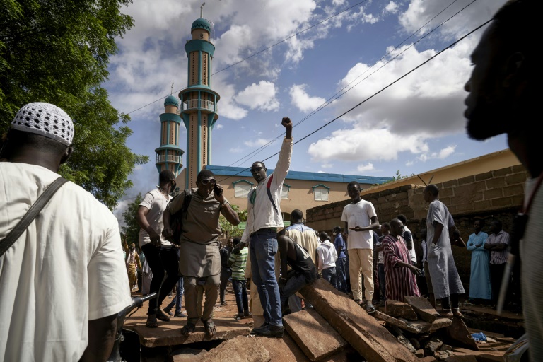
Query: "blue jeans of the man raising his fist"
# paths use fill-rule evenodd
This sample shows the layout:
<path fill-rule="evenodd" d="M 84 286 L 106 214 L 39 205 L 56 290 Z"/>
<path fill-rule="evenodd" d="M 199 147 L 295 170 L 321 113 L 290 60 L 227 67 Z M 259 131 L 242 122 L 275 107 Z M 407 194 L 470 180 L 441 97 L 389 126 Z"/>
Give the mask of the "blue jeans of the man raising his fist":
<path fill-rule="evenodd" d="M 282 327 L 279 285 L 275 275 L 276 254 L 277 234 L 274 230 L 260 229 L 252 233 L 249 243 L 251 274 L 264 310 L 264 320 Z"/>

